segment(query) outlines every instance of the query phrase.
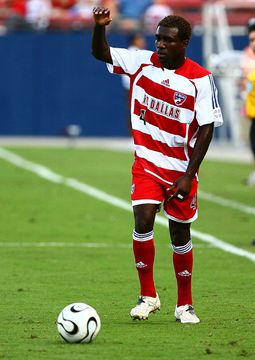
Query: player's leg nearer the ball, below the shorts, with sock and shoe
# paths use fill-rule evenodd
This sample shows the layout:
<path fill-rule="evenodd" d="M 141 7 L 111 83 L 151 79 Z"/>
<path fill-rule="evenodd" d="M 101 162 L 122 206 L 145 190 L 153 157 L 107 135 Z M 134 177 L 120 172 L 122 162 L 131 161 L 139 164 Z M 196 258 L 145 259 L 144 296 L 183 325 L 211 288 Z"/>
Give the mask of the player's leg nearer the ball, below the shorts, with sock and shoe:
<path fill-rule="evenodd" d="M 157 204 L 142 204 L 133 207 L 135 229 L 133 250 L 140 281 L 140 296 L 130 315 L 135 320 L 147 319 L 151 312 L 160 309 L 160 300 L 153 279 L 155 258 L 153 226 Z"/>

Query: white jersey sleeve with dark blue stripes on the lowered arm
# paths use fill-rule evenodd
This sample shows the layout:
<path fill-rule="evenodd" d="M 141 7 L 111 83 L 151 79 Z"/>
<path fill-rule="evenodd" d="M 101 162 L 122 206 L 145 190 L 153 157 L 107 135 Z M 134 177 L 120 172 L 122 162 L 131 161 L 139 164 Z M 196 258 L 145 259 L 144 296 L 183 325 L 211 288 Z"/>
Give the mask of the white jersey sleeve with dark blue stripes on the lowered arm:
<path fill-rule="evenodd" d="M 193 81 L 197 88 L 195 111 L 199 126 L 211 123 L 214 123 L 215 127 L 221 126 L 223 123 L 222 112 L 212 74 Z"/>

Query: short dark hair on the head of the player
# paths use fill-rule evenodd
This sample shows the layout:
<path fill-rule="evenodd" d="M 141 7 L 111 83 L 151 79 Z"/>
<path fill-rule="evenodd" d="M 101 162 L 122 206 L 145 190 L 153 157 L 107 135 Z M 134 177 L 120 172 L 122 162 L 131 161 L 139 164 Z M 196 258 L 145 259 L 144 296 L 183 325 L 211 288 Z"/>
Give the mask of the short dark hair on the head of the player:
<path fill-rule="evenodd" d="M 190 23 L 178 15 L 166 16 L 159 22 L 158 26 L 177 28 L 181 40 L 190 40 L 192 35 Z"/>

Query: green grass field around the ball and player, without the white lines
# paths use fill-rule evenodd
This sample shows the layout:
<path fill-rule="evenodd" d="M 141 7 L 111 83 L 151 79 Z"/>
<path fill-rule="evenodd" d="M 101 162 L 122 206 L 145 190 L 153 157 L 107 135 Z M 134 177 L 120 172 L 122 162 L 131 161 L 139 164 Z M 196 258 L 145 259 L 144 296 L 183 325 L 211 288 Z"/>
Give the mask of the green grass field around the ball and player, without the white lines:
<path fill-rule="evenodd" d="M 129 152 L 9 148 L 64 177 L 129 201 Z M 0 359 L 255 359 L 255 262 L 197 238 L 193 273 L 198 325 L 176 323 L 168 230 L 155 227 L 161 311 L 134 322 L 138 296 L 132 213 L 0 159 Z M 200 189 L 254 207 L 242 180 L 252 166 L 205 161 Z M 200 201 L 193 229 L 255 254 L 255 215 Z M 161 215 L 162 216 L 162 215 Z M 89 247 L 90 244 L 90 247 Z M 64 306 L 85 302 L 102 321 L 92 344 L 66 344 L 56 330 Z"/>

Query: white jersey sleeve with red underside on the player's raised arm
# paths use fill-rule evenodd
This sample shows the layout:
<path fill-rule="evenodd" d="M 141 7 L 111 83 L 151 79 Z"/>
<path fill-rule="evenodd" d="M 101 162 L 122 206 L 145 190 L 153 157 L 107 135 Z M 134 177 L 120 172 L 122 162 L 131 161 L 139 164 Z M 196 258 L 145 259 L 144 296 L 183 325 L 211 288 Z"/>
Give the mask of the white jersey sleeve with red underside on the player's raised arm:
<path fill-rule="evenodd" d="M 113 64 L 107 64 L 110 73 L 134 74 L 142 64 L 151 64 L 152 51 L 110 48 Z"/>

